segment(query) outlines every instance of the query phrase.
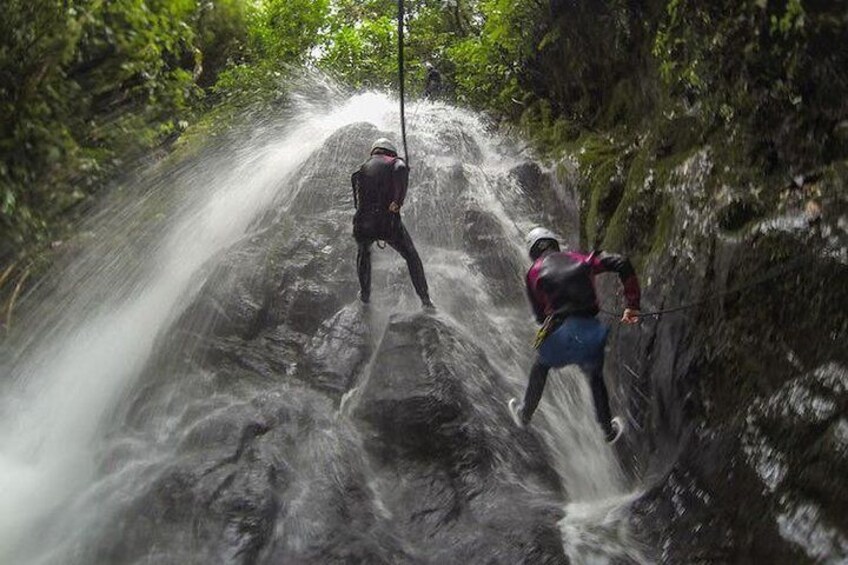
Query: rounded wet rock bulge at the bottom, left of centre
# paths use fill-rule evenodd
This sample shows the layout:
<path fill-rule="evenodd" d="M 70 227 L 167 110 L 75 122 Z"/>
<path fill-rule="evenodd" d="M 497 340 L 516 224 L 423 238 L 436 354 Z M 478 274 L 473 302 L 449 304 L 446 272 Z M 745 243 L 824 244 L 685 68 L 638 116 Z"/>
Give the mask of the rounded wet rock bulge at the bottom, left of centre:
<path fill-rule="evenodd" d="M 182 424 L 178 457 L 147 470 L 96 562 L 412 561 L 325 397 L 282 386 Z"/>

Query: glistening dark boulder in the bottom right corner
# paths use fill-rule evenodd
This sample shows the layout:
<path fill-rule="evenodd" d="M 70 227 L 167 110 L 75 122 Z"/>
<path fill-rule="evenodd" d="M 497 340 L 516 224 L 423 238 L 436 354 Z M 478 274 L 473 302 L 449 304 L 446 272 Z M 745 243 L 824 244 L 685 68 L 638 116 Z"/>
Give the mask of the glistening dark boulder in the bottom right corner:
<path fill-rule="evenodd" d="M 848 368 L 827 363 L 751 406 L 743 450 L 781 536 L 807 558 L 848 555 Z"/>

